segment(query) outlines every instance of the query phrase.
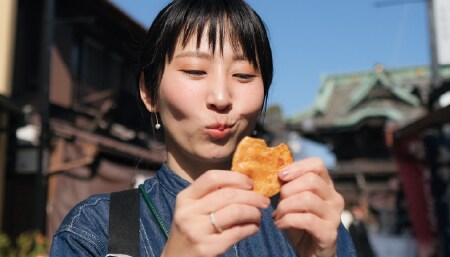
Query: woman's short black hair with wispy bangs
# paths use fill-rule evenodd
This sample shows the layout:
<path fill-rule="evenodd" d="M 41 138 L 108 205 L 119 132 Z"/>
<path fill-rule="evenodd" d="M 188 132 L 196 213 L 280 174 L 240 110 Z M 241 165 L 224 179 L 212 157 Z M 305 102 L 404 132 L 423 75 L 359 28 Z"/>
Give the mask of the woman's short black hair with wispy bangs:
<path fill-rule="evenodd" d="M 232 47 L 241 48 L 244 57 L 261 73 L 264 108 L 273 77 L 272 50 L 264 22 L 242 0 L 174 0 L 159 12 L 148 30 L 138 58 L 138 81 L 143 72 L 152 103 L 157 103 L 166 61 L 172 60 L 177 44 L 185 46 L 195 35 L 197 47 L 200 47 L 206 26 L 213 53 L 217 50 L 217 39 L 220 51 L 223 51 L 224 38 L 228 36 Z M 225 31 L 229 34 L 224 35 Z"/>

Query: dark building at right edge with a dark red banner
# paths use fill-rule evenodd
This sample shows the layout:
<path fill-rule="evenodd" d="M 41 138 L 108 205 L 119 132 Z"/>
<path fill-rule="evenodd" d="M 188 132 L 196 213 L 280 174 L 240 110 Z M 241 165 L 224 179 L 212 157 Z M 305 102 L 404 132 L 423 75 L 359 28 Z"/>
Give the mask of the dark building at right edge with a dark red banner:
<path fill-rule="evenodd" d="M 426 115 L 391 131 L 392 152 L 420 256 L 450 256 L 450 79 Z"/>

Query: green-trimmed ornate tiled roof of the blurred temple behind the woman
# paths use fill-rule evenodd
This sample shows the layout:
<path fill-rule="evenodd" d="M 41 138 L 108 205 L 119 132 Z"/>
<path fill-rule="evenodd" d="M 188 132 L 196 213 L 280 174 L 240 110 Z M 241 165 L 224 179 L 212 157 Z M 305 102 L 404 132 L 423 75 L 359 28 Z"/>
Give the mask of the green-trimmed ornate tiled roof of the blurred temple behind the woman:
<path fill-rule="evenodd" d="M 450 77 L 450 66 L 441 67 Z M 425 111 L 430 70 L 425 66 L 326 76 L 314 105 L 289 121 L 302 132 L 358 126 L 369 118 L 410 122 Z M 313 132 L 314 133 L 314 132 Z"/>

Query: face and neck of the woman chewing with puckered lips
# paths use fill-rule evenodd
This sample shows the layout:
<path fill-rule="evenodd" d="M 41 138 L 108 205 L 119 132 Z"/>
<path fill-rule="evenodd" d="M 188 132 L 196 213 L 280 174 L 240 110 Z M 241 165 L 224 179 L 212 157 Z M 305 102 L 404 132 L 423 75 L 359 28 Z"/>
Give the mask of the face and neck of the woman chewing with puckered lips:
<path fill-rule="evenodd" d="M 177 46 L 166 63 L 156 109 L 165 127 L 172 169 L 229 168 L 232 153 L 253 132 L 264 101 L 261 74 L 228 40 L 215 53 L 203 37 Z M 237 51 L 237 50 L 236 50 Z"/>

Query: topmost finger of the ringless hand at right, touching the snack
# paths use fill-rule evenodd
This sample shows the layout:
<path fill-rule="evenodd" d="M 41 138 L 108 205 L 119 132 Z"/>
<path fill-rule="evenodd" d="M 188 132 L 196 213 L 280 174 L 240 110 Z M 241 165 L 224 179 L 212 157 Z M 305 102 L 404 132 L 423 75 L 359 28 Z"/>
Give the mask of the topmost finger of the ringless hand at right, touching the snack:
<path fill-rule="evenodd" d="M 307 158 L 300 160 L 286 166 L 279 172 L 279 177 L 283 181 L 291 181 L 301 177 L 305 173 L 313 172 L 319 175 L 328 185 L 332 186 L 333 181 L 328 173 L 328 170 L 319 158 Z"/>

